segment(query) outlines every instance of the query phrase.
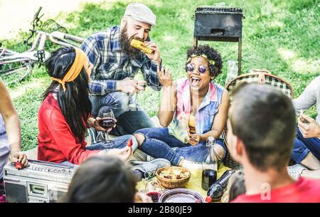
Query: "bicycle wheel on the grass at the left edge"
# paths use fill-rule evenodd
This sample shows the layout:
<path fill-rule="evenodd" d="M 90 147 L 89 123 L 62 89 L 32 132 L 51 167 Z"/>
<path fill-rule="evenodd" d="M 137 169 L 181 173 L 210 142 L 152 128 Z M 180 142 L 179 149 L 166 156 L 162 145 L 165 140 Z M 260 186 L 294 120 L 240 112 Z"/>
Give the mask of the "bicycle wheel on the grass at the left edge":
<path fill-rule="evenodd" d="M 30 61 L 0 63 L 0 78 L 6 85 L 18 83 L 31 74 L 32 65 Z"/>

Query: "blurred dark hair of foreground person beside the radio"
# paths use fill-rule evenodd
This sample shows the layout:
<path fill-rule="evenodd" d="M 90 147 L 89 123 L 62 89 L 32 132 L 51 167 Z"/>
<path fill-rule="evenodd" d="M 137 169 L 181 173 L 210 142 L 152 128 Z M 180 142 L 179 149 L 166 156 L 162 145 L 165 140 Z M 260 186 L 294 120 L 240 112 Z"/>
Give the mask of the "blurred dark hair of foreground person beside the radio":
<path fill-rule="evenodd" d="M 63 203 L 133 203 L 137 177 L 115 156 L 94 156 L 75 172 Z"/>

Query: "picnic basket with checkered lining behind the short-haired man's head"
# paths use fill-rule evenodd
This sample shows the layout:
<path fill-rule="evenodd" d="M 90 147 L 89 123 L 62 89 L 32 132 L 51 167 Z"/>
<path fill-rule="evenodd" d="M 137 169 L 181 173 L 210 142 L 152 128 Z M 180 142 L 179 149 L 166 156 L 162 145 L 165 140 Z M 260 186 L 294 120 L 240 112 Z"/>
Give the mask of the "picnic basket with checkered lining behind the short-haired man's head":
<path fill-rule="evenodd" d="M 242 82 L 247 82 L 247 83 L 255 82 L 255 83 L 272 85 L 274 88 L 277 88 L 282 92 L 284 92 L 284 94 L 290 97 L 291 99 L 293 99 L 294 97 L 294 91 L 293 91 L 292 85 L 290 85 L 286 80 L 279 78 L 276 75 L 272 75 L 269 70 L 252 69 L 250 70 L 250 73 L 239 75 L 233 80 L 230 80 L 230 82 L 228 82 L 225 85 L 225 89 L 228 90 L 230 95 L 230 104 L 233 101 L 232 90 Z M 222 134 L 226 147 L 228 147 L 228 142 L 225 139 L 227 130 L 228 130 L 227 127 L 225 127 Z M 223 164 L 225 164 L 225 166 L 228 166 L 232 169 L 241 168 L 241 165 L 235 162 L 230 157 L 229 152 L 225 154 L 225 158 L 223 159 Z"/>

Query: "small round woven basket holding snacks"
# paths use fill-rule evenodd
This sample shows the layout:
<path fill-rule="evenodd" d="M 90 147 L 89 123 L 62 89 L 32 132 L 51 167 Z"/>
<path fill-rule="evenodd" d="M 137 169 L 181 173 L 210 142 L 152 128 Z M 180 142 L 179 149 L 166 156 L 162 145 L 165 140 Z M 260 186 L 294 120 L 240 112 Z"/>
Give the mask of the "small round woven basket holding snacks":
<path fill-rule="evenodd" d="M 164 177 L 159 176 L 161 171 L 165 171 L 168 169 L 174 169 L 174 170 L 178 169 L 178 170 L 181 170 L 182 172 L 188 172 L 189 175 L 182 179 L 166 179 Z M 191 172 L 188 169 L 180 166 L 165 166 L 156 171 L 156 179 L 158 179 L 161 185 L 164 186 L 166 189 L 183 188 L 188 183 L 190 177 L 191 177 Z"/>

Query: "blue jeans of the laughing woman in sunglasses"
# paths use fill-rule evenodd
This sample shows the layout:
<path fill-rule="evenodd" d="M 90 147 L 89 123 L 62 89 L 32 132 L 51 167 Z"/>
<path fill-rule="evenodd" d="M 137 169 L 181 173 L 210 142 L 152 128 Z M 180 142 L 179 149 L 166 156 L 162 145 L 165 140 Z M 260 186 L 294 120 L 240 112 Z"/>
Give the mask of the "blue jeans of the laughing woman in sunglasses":
<path fill-rule="evenodd" d="M 208 154 L 208 148 L 204 142 L 196 146 L 185 144 L 169 134 L 168 127 L 139 129 L 135 134 L 143 134 L 145 137 L 140 150 L 151 157 L 168 159 L 174 165 L 178 165 L 181 159 L 203 162 Z M 225 150 L 225 144 L 221 140 L 217 140 L 216 143 Z"/>

